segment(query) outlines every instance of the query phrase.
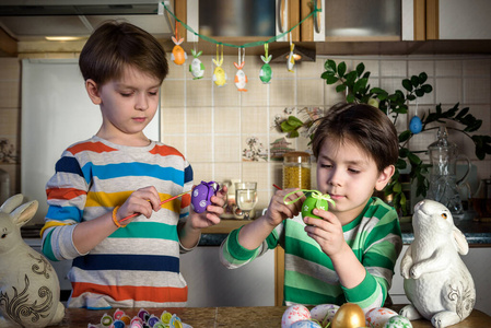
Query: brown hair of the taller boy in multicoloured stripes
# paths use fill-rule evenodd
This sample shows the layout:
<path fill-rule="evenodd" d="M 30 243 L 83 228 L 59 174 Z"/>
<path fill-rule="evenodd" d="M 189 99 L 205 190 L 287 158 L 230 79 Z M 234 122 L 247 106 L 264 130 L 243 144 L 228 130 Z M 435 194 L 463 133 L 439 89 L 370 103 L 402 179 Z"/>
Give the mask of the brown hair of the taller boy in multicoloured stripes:
<path fill-rule="evenodd" d="M 102 85 L 121 78 L 127 66 L 161 81 L 168 73 L 164 48 L 150 33 L 130 23 L 107 21 L 92 33 L 80 52 L 83 79 Z"/>

